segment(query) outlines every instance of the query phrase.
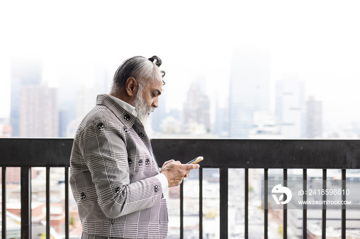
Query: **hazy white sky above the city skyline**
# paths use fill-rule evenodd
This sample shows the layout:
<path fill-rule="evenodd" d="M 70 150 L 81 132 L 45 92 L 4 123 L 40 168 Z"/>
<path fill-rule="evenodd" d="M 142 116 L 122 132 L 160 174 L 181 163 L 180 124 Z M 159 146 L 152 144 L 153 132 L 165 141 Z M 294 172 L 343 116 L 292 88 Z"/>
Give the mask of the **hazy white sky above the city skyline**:
<path fill-rule="evenodd" d="M 168 108 L 200 81 L 225 103 L 236 49 L 271 57 L 271 85 L 305 81 L 328 121 L 360 120 L 360 1 L 1 1 L 0 117 L 10 115 L 10 59 L 39 56 L 50 85 L 94 82 L 133 55 L 163 59 Z M 61 74 L 60 74 L 61 72 Z M 171 92 L 171 93 L 170 93 Z"/>

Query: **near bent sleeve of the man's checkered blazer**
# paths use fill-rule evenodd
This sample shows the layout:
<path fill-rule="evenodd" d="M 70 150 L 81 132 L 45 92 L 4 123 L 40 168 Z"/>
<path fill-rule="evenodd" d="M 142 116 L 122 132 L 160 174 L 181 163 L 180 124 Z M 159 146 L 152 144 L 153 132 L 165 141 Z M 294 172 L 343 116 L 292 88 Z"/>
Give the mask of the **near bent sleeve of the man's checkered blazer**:
<path fill-rule="evenodd" d="M 122 127 L 98 120 L 88 125 L 79 146 L 95 185 L 98 204 L 109 218 L 155 206 L 163 197 L 157 177 L 130 184 L 128 153 Z"/>

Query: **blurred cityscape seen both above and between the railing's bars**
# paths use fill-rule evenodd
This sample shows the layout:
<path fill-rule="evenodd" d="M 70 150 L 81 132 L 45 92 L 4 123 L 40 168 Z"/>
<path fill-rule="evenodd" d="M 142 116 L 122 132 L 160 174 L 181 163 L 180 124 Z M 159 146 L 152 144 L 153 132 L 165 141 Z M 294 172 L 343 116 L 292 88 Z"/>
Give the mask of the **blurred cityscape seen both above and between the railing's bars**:
<path fill-rule="evenodd" d="M 84 115 L 94 107 L 96 95 L 109 93 L 112 73 L 94 69 L 94 87 L 60 84 L 49 87 L 42 77 L 40 59 L 14 59 L 11 65 L 11 114 L 0 118 L 1 137 L 73 137 Z M 171 92 L 164 91 L 160 107 L 152 115 L 155 138 L 341 138 L 360 136 L 360 121 L 327 127 L 323 122 L 322 101 L 316 95 L 305 98 L 304 79 L 286 76 L 276 82 L 275 98 L 271 99 L 269 58 L 266 55 L 243 53 L 234 58 L 229 78 L 226 106 L 211 102 L 199 83 L 188 86 L 183 108 L 167 105 Z M 223 89 L 224 90 L 224 89 Z M 275 102 L 272 111 L 269 103 Z M 214 110 L 214 112 L 212 112 Z M 212 117 L 211 115 L 214 115 Z M 197 156 L 197 155 L 194 155 Z M 261 170 L 249 170 L 249 238 L 261 238 L 264 223 L 261 209 Z M 330 175 L 331 173 L 329 173 Z M 338 170 L 330 178 L 339 177 Z M 282 171 L 272 171 L 281 178 Z M 301 177 L 289 170 L 289 179 Z M 321 179 L 318 171 L 308 177 Z M 328 177 L 329 177 L 328 175 Z M 358 171 L 351 171 L 359 180 Z M 194 171 L 184 182 L 184 238 L 199 235 L 199 180 Z M 270 179 L 270 177 L 269 177 Z M 219 170 L 204 169 L 204 238 L 219 238 Z M 51 238 L 64 238 L 64 172 L 51 169 Z M 20 238 L 20 168 L 7 169 L 7 233 Z M 229 170 L 229 238 L 244 237 L 244 170 Z M 81 236 L 75 201 L 70 203 L 70 238 Z M 289 212 L 288 238 L 301 238 L 301 211 Z M 340 238 L 339 213 L 329 213 L 331 238 Z M 32 238 L 45 238 L 45 169 L 32 169 Z M 360 238 L 360 219 L 349 211 L 351 238 Z M 321 213 L 308 213 L 309 238 L 320 238 Z M 347 223 L 347 225 L 350 225 Z M 269 210 L 269 238 L 282 238 L 282 211 Z M 350 233 L 350 232 L 349 232 Z M 321 233 L 320 233 L 321 234 Z M 179 187 L 169 189 L 169 238 L 179 236 Z M 357 236 L 357 237 L 355 237 Z"/>

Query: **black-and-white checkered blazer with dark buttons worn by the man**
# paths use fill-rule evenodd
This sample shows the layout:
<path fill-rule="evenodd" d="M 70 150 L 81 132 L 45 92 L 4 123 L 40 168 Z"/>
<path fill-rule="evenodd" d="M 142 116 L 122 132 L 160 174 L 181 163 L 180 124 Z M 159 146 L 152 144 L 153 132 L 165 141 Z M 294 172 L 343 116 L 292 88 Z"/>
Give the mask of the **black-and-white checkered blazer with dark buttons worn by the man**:
<path fill-rule="evenodd" d="M 76 131 L 70 157 L 82 238 L 166 238 L 167 203 L 158 173 L 138 118 L 98 95 Z"/>

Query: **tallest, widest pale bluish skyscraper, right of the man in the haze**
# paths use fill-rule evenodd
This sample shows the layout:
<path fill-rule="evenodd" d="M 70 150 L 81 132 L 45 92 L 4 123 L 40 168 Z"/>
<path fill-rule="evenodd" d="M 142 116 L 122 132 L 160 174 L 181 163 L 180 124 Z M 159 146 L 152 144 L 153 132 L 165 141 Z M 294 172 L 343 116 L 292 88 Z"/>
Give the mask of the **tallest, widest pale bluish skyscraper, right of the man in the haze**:
<path fill-rule="evenodd" d="M 247 138 L 255 111 L 269 110 L 269 56 L 261 52 L 234 54 L 230 78 L 229 136 Z"/>

